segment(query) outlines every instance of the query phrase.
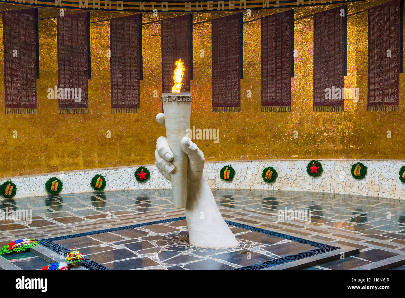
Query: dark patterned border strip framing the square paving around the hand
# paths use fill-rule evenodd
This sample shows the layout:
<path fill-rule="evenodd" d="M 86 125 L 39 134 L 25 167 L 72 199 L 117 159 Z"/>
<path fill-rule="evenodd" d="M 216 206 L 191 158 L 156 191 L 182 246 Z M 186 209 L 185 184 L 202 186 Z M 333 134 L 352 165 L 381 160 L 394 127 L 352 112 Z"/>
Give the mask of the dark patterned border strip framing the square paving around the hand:
<path fill-rule="evenodd" d="M 170 219 L 162 219 L 162 220 L 158 220 L 158 221 L 149 221 L 149 222 L 145 222 L 142 224 L 134 224 L 134 225 L 118 227 L 118 228 L 109 228 L 109 229 L 97 230 L 97 231 L 91 231 L 91 232 L 85 232 L 85 233 L 79 233 L 79 234 L 72 234 L 72 235 L 52 237 L 52 238 L 47 238 L 47 239 L 40 239 L 40 240 L 38 240 L 38 242 L 40 245 L 46 247 L 47 249 L 50 249 L 51 251 L 54 251 L 55 253 L 58 253 L 60 255 L 66 256 L 71 250 L 67 249 L 66 247 L 64 247 L 62 245 L 59 245 L 58 243 L 55 243 L 55 241 L 62 240 L 62 239 L 77 238 L 77 237 L 81 237 L 81 236 L 90 236 L 90 235 L 95 235 L 95 234 L 115 232 L 115 231 L 119 231 L 119 230 L 127 230 L 127 229 L 131 229 L 131 228 L 151 226 L 151 225 L 155 225 L 155 224 L 164 224 L 166 222 L 180 221 L 180 220 L 184 220 L 184 219 L 185 219 L 185 217 L 183 216 L 183 217 L 175 217 L 175 218 L 170 218 Z M 262 234 L 266 234 L 266 235 L 270 235 L 270 236 L 275 236 L 275 237 L 279 237 L 279 238 L 283 238 L 283 239 L 287 239 L 287 240 L 291 240 L 291 241 L 295 241 L 298 243 L 307 244 L 307 245 L 316 247 L 316 249 L 312 249 L 310 251 L 304 251 L 301 253 L 296 253 L 294 255 L 288 255 L 286 257 L 281 257 L 281 258 L 269 260 L 269 261 L 258 263 L 258 264 L 252 264 L 249 266 L 235 268 L 233 270 L 260 270 L 260 269 L 264 269 L 264 268 L 271 267 L 271 266 L 276 266 L 276 265 L 285 264 L 288 262 L 293 262 L 296 260 L 301 260 L 304 258 L 311 257 L 313 255 L 319 255 L 321 253 L 326 253 L 328 251 L 333 251 L 333 250 L 340 248 L 340 247 L 326 245 L 326 244 L 319 243 L 319 242 L 305 240 L 305 239 L 298 238 L 295 236 L 290 236 L 287 234 L 282 234 L 279 232 L 264 230 L 262 228 L 257 228 L 257 227 L 249 226 L 246 224 L 240 224 L 240 223 L 233 222 L 233 221 L 226 220 L 226 223 L 230 226 L 235 226 L 235 227 L 242 228 L 245 230 L 251 230 L 254 232 L 258 232 L 258 233 L 262 233 Z M 83 266 L 84 268 L 86 268 L 88 270 L 111 270 L 110 268 L 107 268 L 101 264 L 98 264 L 97 262 L 94 262 L 93 260 L 90 260 L 86 256 L 83 257 L 83 261 L 80 264 L 81 264 L 81 266 Z"/>

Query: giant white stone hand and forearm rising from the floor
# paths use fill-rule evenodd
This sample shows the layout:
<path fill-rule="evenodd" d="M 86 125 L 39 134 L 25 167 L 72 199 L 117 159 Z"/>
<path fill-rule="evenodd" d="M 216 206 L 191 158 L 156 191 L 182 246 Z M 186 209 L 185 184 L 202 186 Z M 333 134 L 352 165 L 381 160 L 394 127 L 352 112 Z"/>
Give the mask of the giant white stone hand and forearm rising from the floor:
<path fill-rule="evenodd" d="M 164 114 L 158 114 L 156 121 L 164 126 Z M 187 202 L 184 211 L 190 244 L 205 248 L 237 247 L 238 241 L 218 211 L 207 179 L 203 175 L 203 152 L 188 137 L 184 137 L 180 145 L 188 155 Z M 173 152 L 164 136 L 156 141 L 155 157 L 159 172 L 171 181 L 171 173 L 175 170 L 171 162 Z"/>

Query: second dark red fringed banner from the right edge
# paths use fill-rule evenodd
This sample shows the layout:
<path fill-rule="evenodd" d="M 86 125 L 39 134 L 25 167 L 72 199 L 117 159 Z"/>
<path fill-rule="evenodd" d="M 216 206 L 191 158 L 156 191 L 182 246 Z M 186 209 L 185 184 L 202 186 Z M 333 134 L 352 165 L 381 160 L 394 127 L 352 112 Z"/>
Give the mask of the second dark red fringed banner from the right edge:
<path fill-rule="evenodd" d="M 313 18 L 313 111 L 344 111 L 347 8 Z"/>

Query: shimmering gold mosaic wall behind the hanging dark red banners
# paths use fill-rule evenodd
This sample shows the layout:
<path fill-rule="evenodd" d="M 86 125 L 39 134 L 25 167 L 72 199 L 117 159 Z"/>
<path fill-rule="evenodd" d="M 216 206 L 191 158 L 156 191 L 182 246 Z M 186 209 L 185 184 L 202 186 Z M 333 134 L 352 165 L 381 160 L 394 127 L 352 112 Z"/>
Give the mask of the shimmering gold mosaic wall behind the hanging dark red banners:
<path fill-rule="evenodd" d="M 362 11 L 387 1 L 349 4 L 348 12 Z M 337 5 L 299 8 L 295 18 Z M 0 10 L 27 6 L 1 4 Z M 253 11 L 255 19 L 283 9 Z M 72 13 L 73 11 L 66 11 Z M 56 16 L 57 9 L 40 9 L 39 17 Z M 91 20 L 128 13 L 94 12 Z M 194 22 L 226 13 L 199 13 Z M 179 14 L 144 15 L 143 22 Z M 0 30 L 2 32 L 2 29 Z M 196 140 L 207 161 L 289 158 L 405 159 L 404 75 L 400 75 L 400 111 L 367 112 L 367 11 L 348 17 L 348 69 L 345 87 L 359 88 L 359 100 L 345 101 L 345 111 L 312 111 L 313 18 L 295 22 L 292 111 L 261 112 L 260 21 L 244 25 L 244 79 L 241 113 L 211 113 L 211 23 L 194 26 L 194 80 L 191 126 L 219 128 L 218 143 Z M 0 38 L 0 47 L 2 38 Z M 0 177 L 46 172 L 153 164 L 156 139 L 165 130 L 155 121 L 161 112 L 160 23 L 143 26 L 143 81 L 141 113 L 111 114 L 109 22 L 91 25 L 92 79 L 89 114 L 59 115 L 58 100 L 47 99 L 47 89 L 58 83 L 56 19 L 39 21 L 40 79 L 37 115 L 4 114 L 4 78 L 0 72 Z M 200 57 L 204 50 L 204 57 Z M 3 59 L 0 58 L 3 70 Z M 154 90 L 158 97 L 153 97 Z M 252 96 L 247 97 L 247 90 Z M 390 130 L 392 138 L 387 138 Z M 107 138 L 107 131 L 111 138 Z M 294 138 L 294 131 L 298 137 Z M 15 137 L 17 136 L 17 137 Z"/>

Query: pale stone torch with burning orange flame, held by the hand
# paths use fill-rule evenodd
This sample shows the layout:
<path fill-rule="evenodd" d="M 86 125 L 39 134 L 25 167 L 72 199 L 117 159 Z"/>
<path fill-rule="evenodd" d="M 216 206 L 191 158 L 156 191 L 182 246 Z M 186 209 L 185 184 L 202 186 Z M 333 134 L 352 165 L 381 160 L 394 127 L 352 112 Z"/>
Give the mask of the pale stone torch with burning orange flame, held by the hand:
<path fill-rule="evenodd" d="M 180 142 L 190 128 L 192 96 L 190 92 L 180 92 L 185 70 L 183 64 L 181 59 L 176 61 L 173 75 L 175 85 L 171 93 L 162 94 L 166 138 L 173 152 L 172 162 L 175 166 L 175 170 L 171 173 L 175 208 L 184 208 L 187 200 L 188 156 L 181 149 Z"/>

